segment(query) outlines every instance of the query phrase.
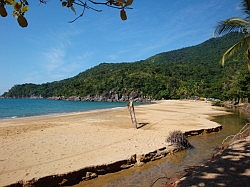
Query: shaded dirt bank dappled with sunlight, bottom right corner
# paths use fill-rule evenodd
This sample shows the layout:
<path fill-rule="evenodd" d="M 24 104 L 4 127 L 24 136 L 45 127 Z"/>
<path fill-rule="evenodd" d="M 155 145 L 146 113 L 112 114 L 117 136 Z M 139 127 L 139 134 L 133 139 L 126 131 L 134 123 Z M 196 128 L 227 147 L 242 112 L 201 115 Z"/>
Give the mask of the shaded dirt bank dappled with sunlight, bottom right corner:
<path fill-rule="evenodd" d="M 249 124 L 219 147 L 213 158 L 202 166 L 190 168 L 187 174 L 171 186 L 241 186 L 250 184 Z"/>

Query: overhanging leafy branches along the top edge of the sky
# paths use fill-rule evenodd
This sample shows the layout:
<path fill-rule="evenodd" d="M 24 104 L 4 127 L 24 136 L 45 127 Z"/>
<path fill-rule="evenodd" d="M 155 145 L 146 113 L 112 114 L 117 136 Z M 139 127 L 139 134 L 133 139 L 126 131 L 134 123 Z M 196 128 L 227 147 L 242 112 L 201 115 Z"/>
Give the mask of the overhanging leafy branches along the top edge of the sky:
<path fill-rule="evenodd" d="M 79 14 L 74 20 L 74 22 L 81 16 L 83 16 L 86 9 L 91 9 L 97 12 L 101 12 L 101 10 L 95 8 L 97 5 L 103 5 L 110 8 L 116 8 L 120 10 L 120 17 L 122 20 L 127 20 L 126 9 L 131 9 L 130 5 L 132 5 L 133 0 L 101 0 L 97 2 L 95 0 L 59 0 L 61 5 L 66 8 L 70 8 L 75 14 L 75 6 L 82 7 L 82 12 Z M 39 0 L 40 3 L 46 4 L 47 0 Z M 90 5 L 89 5 L 90 4 Z M 25 18 L 25 13 L 29 9 L 28 0 L 0 0 L 0 15 L 2 17 L 6 17 L 8 15 L 6 6 L 13 7 L 13 16 L 17 18 L 17 22 L 21 27 L 27 27 L 28 21 Z"/>

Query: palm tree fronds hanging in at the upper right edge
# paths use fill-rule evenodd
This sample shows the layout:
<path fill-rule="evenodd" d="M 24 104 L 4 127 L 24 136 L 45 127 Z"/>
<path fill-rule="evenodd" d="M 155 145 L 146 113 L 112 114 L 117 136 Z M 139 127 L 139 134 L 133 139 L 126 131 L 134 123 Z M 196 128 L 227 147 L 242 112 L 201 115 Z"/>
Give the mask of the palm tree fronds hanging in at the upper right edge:
<path fill-rule="evenodd" d="M 224 35 L 230 32 L 241 32 L 244 34 L 244 38 L 230 47 L 221 58 L 221 65 L 224 66 L 225 60 L 239 51 L 245 49 L 245 57 L 250 71 L 250 0 L 242 0 L 242 11 L 246 14 L 245 18 L 229 18 L 225 21 L 220 21 L 214 31 L 215 35 Z"/>

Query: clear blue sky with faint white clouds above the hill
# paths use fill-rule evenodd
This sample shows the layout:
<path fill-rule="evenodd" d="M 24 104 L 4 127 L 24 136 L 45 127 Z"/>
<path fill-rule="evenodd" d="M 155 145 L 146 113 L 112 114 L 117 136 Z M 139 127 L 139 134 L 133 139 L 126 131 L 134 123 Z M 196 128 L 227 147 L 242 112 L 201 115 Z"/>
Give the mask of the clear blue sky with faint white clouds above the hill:
<path fill-rule="evenodd" d="M 242 17 L 239 0 L 134 0 L 122 21 L 116 9 L 95 6 L 83 17 L 30 0 L 27 28 L 0 17 L 0 95 L 23 83 L 41 84 L 77 75 L 102 62 L 134 62 L 197 45 L 212 37 L 217 21 Z M 81 13 L 81 9 L 77 9 Z"/>

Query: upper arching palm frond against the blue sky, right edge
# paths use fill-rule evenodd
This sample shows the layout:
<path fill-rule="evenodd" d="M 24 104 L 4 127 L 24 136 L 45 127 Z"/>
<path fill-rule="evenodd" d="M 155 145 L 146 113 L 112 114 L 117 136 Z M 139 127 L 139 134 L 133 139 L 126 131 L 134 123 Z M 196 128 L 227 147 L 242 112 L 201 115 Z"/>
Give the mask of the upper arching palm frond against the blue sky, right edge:
<path fill-rule="evenodd" d="M 250 22 L 242 18 L 229 18 L 225 21 L 219 21 L 214 31 L 214 35 L 223 35 L 229 32 L 243 32 L 250 26 Z"/>

